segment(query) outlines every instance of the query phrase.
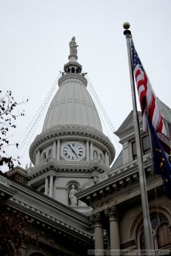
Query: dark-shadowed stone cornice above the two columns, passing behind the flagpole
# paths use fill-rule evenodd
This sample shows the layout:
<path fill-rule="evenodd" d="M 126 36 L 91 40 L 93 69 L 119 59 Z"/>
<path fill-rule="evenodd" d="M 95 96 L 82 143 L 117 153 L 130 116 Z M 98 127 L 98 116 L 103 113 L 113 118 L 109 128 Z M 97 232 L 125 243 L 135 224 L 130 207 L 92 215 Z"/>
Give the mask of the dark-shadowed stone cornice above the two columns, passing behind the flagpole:
<path fill-rule="evenodd" d="M 151 164 L 149 161 L 144 162 L 145 173 L 147 182 L 149 180 L 153 180 L 158 178 L 158 176 L 153 176 L 151 172 Z M 79 200 L 82 200 L 87 205 L 99 204 L 98 202 L 102 202 L 103 200 L 107 200 L 117 195 L 121 195 L 126 191 L 130 191 L 132 188 L 137 188 L 139 186 L 139 178 L 138 178 L 138 166 L 135 164 L 134 166 L 130 166 L 121 172 L 113 173 L 110 175 L 108 173 L 108 179 L 103 180 L 89 188 L 85 188 L 82 191 L 76 194 Z M 102 201 L 101 201 L 102 200 Z"/>

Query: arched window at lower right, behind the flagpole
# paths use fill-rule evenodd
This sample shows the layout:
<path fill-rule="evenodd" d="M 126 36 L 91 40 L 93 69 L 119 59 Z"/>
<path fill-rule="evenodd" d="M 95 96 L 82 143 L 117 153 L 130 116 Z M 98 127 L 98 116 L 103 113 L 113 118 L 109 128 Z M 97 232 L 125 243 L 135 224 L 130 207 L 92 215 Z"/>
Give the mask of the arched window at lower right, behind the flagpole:
<path fill-rule="evenodd" d="M 152 234 L 154 239 L 154 249 L 163 248 L 171 244 L 171 235 L 168 228 L 168 220 L 163 214 L 153 214 L 150 218 Z M 143 228 L 140 230 L 140 248 L 145 249 L 145 239 Z"/>

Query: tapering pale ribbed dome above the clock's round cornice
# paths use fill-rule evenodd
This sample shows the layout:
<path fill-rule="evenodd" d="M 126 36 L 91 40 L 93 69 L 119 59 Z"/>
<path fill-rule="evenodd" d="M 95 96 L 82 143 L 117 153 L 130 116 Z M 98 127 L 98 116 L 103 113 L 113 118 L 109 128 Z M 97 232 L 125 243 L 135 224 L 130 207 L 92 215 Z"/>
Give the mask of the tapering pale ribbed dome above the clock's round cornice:
<path fill-rule="evenodd" d="M 98 111 L 86 86 L 82 74 L 64 74 L 59 79 L 59 90 L 48 108 L 43 131 L 55 125 L 89 125 L 102 132 Z"/>

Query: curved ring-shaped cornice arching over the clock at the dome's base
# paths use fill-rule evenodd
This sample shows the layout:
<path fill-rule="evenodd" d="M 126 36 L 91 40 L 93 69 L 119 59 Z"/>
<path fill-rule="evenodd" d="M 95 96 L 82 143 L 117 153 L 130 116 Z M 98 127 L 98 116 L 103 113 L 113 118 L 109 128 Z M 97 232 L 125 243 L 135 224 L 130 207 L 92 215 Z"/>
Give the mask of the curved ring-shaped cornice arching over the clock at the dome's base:
<path fill-rule="evenodd" d="M 110 162 L 114 160 L 115 157 L 115 149 L 112 145 L 111 141 L 108 139 L 105 134 L 102 132 L 94 129 L 90 126 L 84 126 L 84 125 L 56 125 L 47 131 L 41 132 L 41 134 L 37 135 L 33 143 L 31 144 L 31 147 L 29 148 L 29 156 L 31 158 L 31 161 L 34 161 L 34 152 L 36 148 L 41 147 L 43 143 L 47 143 L 47 141 L 54 141 L 57 139 L 64 139 L 66 138 L 79 138 L 86 140 L 92 140 L 96 143 L 100 143 L 101 145 L 104 145 L 105 148 L 108 149 L 108 152 L 110 152 Z"/>

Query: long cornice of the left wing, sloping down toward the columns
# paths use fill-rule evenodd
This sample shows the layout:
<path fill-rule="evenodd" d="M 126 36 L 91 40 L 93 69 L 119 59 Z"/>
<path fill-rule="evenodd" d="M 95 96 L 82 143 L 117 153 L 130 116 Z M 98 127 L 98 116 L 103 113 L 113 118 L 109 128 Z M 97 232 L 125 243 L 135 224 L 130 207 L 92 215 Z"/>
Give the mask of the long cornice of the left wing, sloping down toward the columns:
<path fill-rule="evenodd" d="M 6 178 L 3 177 L 4 179 Z M 44 223 L 43 225 L 50 225 L 51 228 L 82 237 L 85 241 L 91 241 L 90 221 L 84 214 L 48 196 L 41 195 L 26 185 L 8 179 L 5 181 L 4 187 L 15 191 L 15 195 L 6 201 L 12 209 L 24 212 L 29 218 Z M 5 189 L 3 188 L 2 191 Z"/>

